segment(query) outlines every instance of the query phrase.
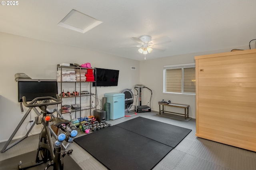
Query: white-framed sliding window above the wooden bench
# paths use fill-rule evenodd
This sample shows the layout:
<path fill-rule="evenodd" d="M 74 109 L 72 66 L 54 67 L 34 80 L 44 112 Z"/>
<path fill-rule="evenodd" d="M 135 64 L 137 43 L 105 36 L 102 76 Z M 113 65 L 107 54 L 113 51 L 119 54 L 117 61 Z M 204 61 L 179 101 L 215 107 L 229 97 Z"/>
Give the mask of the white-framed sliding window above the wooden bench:
<path fill-rule="evenodd" d="M 164 93 L 195 94 L 195 64 L 165 65 Z"/>

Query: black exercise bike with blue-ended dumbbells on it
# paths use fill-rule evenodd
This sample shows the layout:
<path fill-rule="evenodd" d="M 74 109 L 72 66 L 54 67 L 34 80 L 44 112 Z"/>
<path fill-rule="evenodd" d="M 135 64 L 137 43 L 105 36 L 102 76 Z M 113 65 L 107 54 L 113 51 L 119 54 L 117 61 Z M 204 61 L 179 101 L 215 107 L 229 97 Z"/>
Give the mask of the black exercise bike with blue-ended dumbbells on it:
<path fill-rule="evenodd" d="M 66 127 L 70 124 L 70 121 L 65 119 L 60 119 L 58 117 L 54 118 L 54 126 L 61 129 L 61 134 L 58 135 L 58 138 L 55 142 L 52 141 L 52 133 L 50 131 L 49 122 L 52 121 L 51 114 L 47 114 L 46 108 L 48 105 L 56 105 L 62 103 L 61 99 L 58 95 L 57 98 L 54 97 L 36 97 L 30 103 L 26 102 L 26 97 L 22 97 L 23 104 L 26 107 L 40 107 L 42 109 L 42 115 L 38 117 L 41 119 L 43 124 L 43 129 L 39 136 L 39 144 L 36 153 L 36 160 L 33 162 L 26 162 L 23 163 L 22 161 L 19 162 L 18 168 L 20 170 L 24 170 L 33 166 L 37 166 L 42 163 L 48 162 L 45 170 L 47 170 L 50 166 L 53 166 L 54 170 L 63 170 L 64 162 L 63 157 L 68 154 L 72 154 L 72 149 L 68 151 L 64 151 L 61 153 L 62 149 L 62 142 L 65 140 L 66 142 L 72 142 L 74 137 L 77 135 L 76 130 L 66 130 Z M 52 102 L 51 102 L 52 101 Z M 63 126 L 64 125 L 64 126 Z"/>

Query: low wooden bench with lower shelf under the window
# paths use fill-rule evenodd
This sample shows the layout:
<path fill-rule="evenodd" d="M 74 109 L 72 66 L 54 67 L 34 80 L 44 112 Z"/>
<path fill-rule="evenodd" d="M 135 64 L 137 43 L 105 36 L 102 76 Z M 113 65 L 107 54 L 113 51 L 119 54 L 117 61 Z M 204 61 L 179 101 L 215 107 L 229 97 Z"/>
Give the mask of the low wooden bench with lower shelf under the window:
<path fill-rule="evenodd" d="M 161 102 L 158 102 L 158 105 L 159 105 L 159 115 L 161 115 L 161 113 L 174 113 L 177 115 L 184 115 L 185 120 L 188 118 L 189 105 L 183 105 L 183 104 L 177 104 L 177 103 L 165 104 L 165 103 L 161 103 Z M 161 110 L 161 105 L 162 105 L 162 110 Z M 165 111 L 164 106 L 183 108 L 185 112 L 183 114 L 183 113 L 175 113 L 175 112 Z"/>

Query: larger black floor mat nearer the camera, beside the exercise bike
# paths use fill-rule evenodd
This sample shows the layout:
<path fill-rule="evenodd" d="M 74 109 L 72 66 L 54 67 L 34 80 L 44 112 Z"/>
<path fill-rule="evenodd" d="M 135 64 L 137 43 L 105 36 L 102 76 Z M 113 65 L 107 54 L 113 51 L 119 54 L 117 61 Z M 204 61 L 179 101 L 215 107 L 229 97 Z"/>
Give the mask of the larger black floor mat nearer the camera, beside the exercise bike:
<path fill-rule="evenodd" d="M 118 126 L 74 141 L 110 170 L 150 170 L 172 150 L 170 146 Z"/>

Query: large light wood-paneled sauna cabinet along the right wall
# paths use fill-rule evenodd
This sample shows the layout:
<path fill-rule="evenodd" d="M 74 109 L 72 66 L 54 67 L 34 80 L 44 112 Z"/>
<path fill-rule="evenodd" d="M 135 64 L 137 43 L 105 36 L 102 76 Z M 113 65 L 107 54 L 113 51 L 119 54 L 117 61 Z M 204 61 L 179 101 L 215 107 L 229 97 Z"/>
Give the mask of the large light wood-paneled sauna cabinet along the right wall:
<path fill-rule="evenodd" d="M 256 49 L 195 61 L 196 136 L 256 152 Z"/>

